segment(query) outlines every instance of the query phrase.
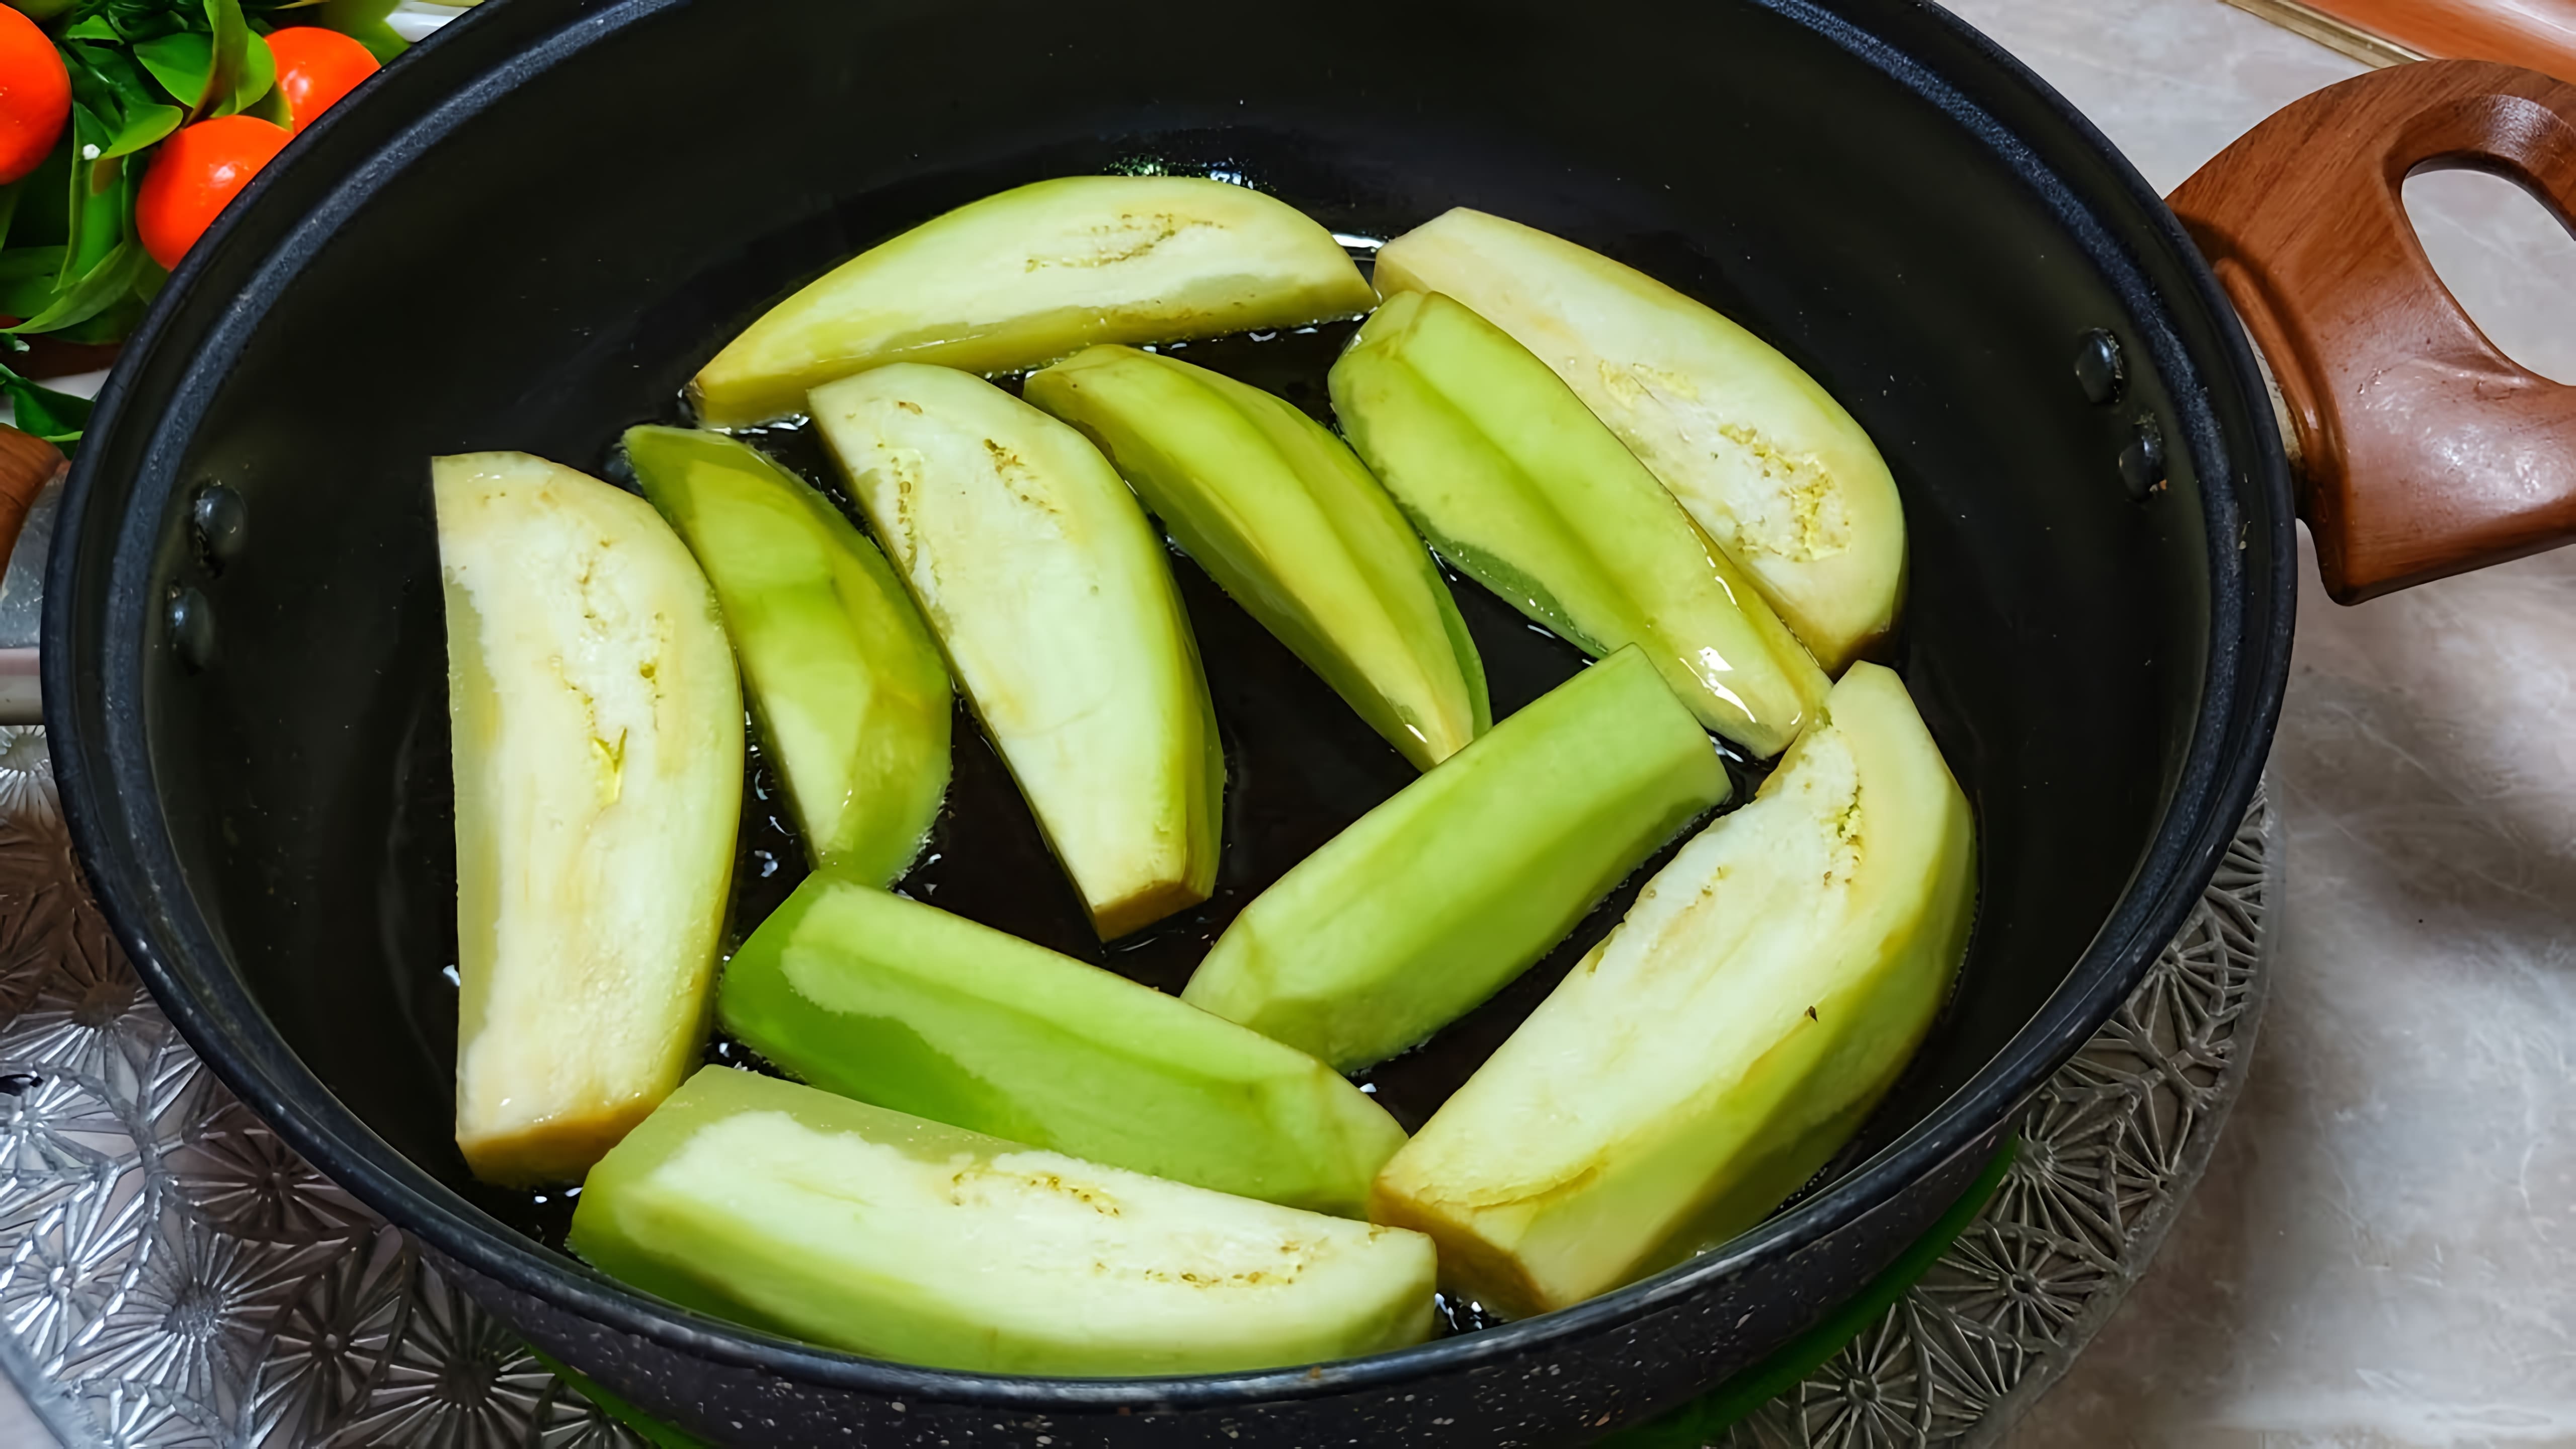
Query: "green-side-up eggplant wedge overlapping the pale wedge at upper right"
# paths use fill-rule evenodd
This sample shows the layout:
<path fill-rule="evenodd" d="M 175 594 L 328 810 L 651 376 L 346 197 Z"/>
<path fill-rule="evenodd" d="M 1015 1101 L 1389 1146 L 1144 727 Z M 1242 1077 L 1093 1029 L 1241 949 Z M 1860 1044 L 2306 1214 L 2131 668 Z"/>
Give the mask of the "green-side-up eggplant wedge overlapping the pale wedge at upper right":
<path fill-rule="evenodd" d="M 1806 647 L 1548 364 L 1404 291 L 1332 364 L 1350 446 L 1425 539 L 1600 657 L 1636 645 L 1703 724 L 1777 755 L 1824 701 Z"/>

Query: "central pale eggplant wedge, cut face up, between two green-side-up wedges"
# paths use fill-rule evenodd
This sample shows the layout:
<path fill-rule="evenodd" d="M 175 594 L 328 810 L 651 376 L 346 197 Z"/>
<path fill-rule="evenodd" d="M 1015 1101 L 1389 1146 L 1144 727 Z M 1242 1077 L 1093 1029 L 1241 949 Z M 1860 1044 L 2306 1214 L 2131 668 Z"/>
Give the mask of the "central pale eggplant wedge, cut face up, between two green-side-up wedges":
<path fill-rule="evenodd" d="M 1100 938 L 1216 887 L 1226 761 L 1162 539 L 1082 433 L 891 364 L 814 423 Z"/>

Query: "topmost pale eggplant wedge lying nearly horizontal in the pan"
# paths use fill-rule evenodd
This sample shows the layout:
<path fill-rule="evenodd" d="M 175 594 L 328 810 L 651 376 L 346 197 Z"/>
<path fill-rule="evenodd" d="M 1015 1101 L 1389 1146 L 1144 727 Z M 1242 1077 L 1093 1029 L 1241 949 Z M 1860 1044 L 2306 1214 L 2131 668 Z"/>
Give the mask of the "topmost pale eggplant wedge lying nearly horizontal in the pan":
<path fill-rule="evenodd" d="M 1224 180 L 1066 175 L 958 206 L 770 307 L 690 394 L 708 425 L 804 407 L 891 361 L 1023 371 L 1092 343 L 1213 338 L 1376 304 L 1342 242 Z"/>

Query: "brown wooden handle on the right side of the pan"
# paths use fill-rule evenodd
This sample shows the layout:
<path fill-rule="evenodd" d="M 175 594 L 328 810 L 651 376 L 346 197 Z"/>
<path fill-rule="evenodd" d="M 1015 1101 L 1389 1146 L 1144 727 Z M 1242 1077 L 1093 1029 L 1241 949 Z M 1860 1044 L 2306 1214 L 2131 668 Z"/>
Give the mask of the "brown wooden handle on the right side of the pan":
<path fill-rule="evenodd" d="M 2272 364 L 2342 603 L 2576 541 L 2576 389 L 2496 351 L 2406 219 L 2406 175 L 2442 168 L 2519 180 L 2568 222 L 2576 85 L 2473 59 L 2380 70 L 2172 196 Z"/>

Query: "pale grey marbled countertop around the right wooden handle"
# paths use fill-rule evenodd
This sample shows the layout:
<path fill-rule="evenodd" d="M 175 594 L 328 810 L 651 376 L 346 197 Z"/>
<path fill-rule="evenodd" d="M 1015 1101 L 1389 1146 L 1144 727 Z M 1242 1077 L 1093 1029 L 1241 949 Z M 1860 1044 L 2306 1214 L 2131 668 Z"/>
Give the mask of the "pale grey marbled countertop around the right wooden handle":
<path fill-rule="evenodd" d="M 2360 72 L 2218 0 L 1958 0 L 2172 191 Z M 2576 242 L 2416 178 L 2445 278 L 2576 382 Z M 2275 750 L 2285 941 L 2236 1122 L 2012 1449 L 2576 1446 L 2576 549 L 2336 608 Z M 0 1385 L 0 1446 L 44 1444 Z"/>

